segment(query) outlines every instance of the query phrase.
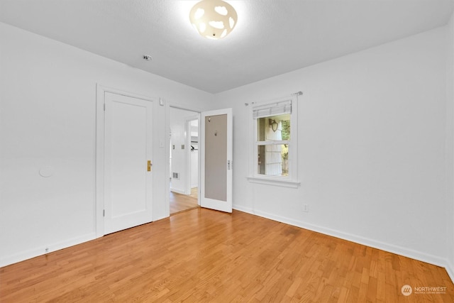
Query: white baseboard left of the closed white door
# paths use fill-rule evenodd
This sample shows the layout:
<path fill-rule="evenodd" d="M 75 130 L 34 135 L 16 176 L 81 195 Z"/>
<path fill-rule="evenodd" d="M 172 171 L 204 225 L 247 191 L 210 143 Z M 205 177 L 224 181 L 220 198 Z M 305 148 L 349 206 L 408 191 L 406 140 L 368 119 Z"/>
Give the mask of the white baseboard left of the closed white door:
<path fill-rule="evenodd" d="M 28 260 L 31 258 L 38 257 L 38 255 L 45 255 L 46 253 L 52 253 L 52 251 L 60 250 L 63 248 L 68 248 L 80 243 L 94 240 L 96 238 L 96 233 L 88 233 L 87 235 L 71 238 L 65 241 L 49 244 L 48 246 L 33 248 L 30 250 L 23 251 L 21 253 L 16 253 L 14 255 L 7 255 L 0 258 L 0 267 L 6 265 L 11 265 L 13 263 L 18 263 L 23 260 Z M 48 250 L 46 251 L 46 248 Z"/>

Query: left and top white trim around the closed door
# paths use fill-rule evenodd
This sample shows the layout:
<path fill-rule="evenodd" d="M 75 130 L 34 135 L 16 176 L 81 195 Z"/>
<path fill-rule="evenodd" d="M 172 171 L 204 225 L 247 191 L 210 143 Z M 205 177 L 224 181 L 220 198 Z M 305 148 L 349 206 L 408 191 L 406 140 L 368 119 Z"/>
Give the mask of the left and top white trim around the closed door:
<path fill-rule="evenodd" d="M 103 85 L 96 84 L 96 202 L 94 209 L 96 238 L 104 236 L 104 98 L 106 92 L 147 101 L 159 100 L 140 94 L 125 92 L 120 89 L 104 87 Z"/>

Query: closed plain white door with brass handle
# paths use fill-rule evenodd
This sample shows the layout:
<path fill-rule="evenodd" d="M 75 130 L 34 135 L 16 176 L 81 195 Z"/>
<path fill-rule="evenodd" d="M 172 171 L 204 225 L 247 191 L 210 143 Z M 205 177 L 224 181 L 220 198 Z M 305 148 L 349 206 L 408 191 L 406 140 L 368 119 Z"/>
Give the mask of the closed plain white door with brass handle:
<path fill-rule="evenodd" d="M 106 92 L 104 233 L 152 221 L 152 102 Z"/>

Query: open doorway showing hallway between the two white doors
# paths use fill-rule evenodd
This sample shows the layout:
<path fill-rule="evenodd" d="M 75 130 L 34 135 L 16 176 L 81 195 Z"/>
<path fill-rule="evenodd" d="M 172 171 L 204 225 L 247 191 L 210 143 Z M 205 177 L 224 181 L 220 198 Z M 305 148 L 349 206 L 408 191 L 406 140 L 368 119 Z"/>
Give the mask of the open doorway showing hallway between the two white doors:
<path fill-rule="evenodd" d="M 199 113 L 170 106 L 170 214 L 199 207 Z"/>

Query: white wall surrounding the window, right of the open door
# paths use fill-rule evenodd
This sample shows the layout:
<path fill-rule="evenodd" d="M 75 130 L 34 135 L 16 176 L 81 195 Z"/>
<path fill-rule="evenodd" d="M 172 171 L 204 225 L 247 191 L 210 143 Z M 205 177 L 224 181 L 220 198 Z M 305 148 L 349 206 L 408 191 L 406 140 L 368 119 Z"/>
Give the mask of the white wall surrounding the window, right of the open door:
<path fill-rule="evenodd" d="M 219 108 L 233 108 L 233 207 L 445 265 L 445 34 L 437 28 L 217 94 Z M 301 187 L 248 182 L 245 103 L 300 90 Z"/>

